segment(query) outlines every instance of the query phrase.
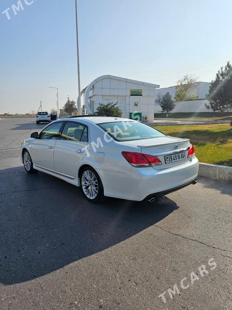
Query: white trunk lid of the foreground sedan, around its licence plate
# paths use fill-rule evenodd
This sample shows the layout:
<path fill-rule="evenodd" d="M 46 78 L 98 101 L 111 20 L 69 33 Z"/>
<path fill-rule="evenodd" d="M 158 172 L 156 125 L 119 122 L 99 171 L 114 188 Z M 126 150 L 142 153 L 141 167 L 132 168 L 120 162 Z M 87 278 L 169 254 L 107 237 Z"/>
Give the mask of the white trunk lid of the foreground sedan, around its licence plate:
<path fill-rule="evenodd" d="M 188 150 L 190 146 L 189 139 L 181 139 L 177 137 L 165 136 L 151 139 L 134 140 L 134 141 L 120 141 L 123 144 L 130 144 L 141 148 L 141 153 L 154 155 L 162 162 L 160 166 L 154 166 L 155 170 L 161 170 L 174 166 L 181 165 L 191 160 L 187 158 Z M 177 146 L 176 146 L 177 145 Z M 174 162 L 165 163 L 165 156 L 171 154 L 185 153 L 185 159 L 181 159 Z"/>

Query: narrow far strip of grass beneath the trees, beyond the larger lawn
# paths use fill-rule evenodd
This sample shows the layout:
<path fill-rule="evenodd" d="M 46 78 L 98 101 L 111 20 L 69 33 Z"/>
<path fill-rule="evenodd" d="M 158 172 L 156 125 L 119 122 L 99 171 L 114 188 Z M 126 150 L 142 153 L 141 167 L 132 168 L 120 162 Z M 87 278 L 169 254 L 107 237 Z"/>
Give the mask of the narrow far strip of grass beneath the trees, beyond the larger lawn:
<path fill-rule="evenodd" d="M 166 113 L 154 113 L 156 118 L 166 117 Z M 232 112 L 189 112 L 189 113 L 168 113 L 168 118 L 195 118 L 195 119 L 217 119 L 223 121 L 230 121 L 232 118 Z"/>

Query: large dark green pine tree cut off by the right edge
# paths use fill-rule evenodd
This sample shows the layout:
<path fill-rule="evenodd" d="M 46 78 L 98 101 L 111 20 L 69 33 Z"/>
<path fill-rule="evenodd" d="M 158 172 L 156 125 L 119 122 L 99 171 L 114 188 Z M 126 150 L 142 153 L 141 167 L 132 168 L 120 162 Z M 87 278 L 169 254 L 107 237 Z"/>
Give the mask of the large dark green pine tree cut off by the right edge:
<path fill-rule="evenodd" d="M 217 71 L 216 78 L 211 81 L 206 97 L 209 100 L 209 104 L 205 104 L 207 109 L 221 113 L 232 109 L 232 66 L 229 61 L 224 69 L 221 67 Z M 232 126 L 232 119 L 230 126 Z"/>

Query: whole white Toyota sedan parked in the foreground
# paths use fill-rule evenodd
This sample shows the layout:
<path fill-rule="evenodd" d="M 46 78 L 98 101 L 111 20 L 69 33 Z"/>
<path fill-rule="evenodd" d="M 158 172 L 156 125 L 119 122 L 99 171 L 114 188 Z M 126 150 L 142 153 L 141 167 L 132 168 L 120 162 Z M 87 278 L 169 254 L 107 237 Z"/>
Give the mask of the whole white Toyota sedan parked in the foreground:
<path fill-rule="evenodd" d="M 196 183 L 199 163 L 189 139 L 127 118 L 81 116 L 52 122 L 24 140 L 28 173 L 43 171 L 80 186 L 84 196 L 153 201 Z"/>

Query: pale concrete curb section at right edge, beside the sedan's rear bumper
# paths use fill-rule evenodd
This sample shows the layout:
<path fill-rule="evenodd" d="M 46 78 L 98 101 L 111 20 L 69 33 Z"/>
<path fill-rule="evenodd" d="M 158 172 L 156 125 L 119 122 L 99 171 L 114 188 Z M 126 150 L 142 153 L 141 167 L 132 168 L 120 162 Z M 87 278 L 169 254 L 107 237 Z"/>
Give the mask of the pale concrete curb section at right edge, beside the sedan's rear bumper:
<path fill-rule="evenodd" d="M 232 182 L 232 167 L 199 162 L 198 176 Z"/>

